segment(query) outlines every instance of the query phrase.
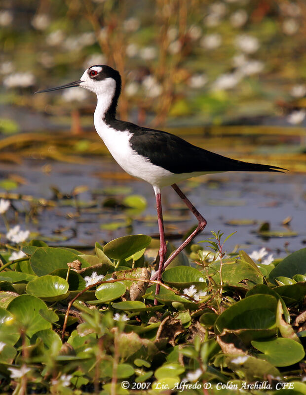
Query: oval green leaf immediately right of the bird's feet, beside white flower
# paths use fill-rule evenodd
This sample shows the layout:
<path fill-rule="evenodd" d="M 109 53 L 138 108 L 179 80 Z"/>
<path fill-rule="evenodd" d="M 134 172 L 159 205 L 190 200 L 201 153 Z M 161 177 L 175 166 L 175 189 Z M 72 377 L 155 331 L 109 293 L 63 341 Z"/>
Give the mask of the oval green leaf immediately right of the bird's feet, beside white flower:
<path fill-rule="evenodd" d="M 201 288 L 206 286 L 206 283 L 201 281 L 203 274 L 190 266 L 172 267 L 162 273 L 162 279 L 166 284 L 177 288 L 190 287 L 194 283 L 200 283 Z"/>

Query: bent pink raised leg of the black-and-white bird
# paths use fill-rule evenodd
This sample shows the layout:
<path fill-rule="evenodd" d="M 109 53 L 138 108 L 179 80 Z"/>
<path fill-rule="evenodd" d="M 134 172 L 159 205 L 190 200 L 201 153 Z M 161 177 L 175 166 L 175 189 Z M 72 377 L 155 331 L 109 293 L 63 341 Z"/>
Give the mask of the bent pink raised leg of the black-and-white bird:
<path fill-rule="evenodd" d="M 181 189 L 176 184 L 172 184 L 171 186 L 175 190 L 175 192 L 180 196 L 180 198 L 182 200 L 184 200 L 187 207 L 192 211 L 195 218 L 198 220 L 198 225 L 197 225 L 197 228 L 191 233 L 191 235 L 184 241 L 184 243 L 181 244 L 180 247 L 177 250 L 175 250 L 171 254 L 171 256 L 167 259 L 167 261 L 163 264 L 162 270 L 164 270 L 168 266 L 168 264 L 170 264 L 174 260 L 174 258 L 179 255 L 179 253 L 182 250 L 184 250 L 184 248 L 187 246 L 187 244 L 189 244 L 191 242 L 191 240 L 193 240 L 194 237 L 205 228 L 206 223 L 207 223 L 206 219 L 201 216 L 201 214 L 196 210 L 196 208 L 193 206 L 193 204 L 187 199 L 187 197 L 184 195 L 184 193 L 181 191 Z M 156 200 L 157 200 L 157 196 L 156 196 Z M 160 208 L 160 210 L 161 210 L 161 208 Z M 157 213 L 158 213 L 158 211 L 157 211 Z M 161 235 L 160 235 L 160 240 L 161 240 Z M 159 267 L 160 267 L 160 265 L 159 265 Z M 159 268 L 158 268 L 158 272 L 155 273 L 151 277 L 151 280 L 156 280 L 156 278 L 158 278 L 158 276 L 160 276 L 159 278 L 161 278 L 161 273 L 159 274 Z M 157 289 L 157 287 L 156 287 L 156 289 Z"/>

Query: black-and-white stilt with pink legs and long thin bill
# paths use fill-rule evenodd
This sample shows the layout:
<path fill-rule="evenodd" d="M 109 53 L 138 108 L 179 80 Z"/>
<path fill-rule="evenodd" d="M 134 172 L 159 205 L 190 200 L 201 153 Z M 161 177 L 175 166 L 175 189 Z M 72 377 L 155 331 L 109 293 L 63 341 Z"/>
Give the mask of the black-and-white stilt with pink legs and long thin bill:
<path fill-rule="evenodd" d="M 116 106 L 121 91 L 120 74 L 109 66 L 96 65 L 85 70 L 81 79 L 50 90 L 81 87 L 96 93 L 98 102 L 94 113 L 96 131 L 115 161 L 128 174 L 149 182 L 154 189 L 160 235 L 159 267 L 153 279 L 161 279 L 163 269 L 206 226 L 206 219 L 187 199 L 177 182 L 203 174 L 243 171 L 281 172 L 282 168 L 241 162 L 196 147 L 173 134 L 142 128 L 116 119 Z M 160 190 L 171 185 L 198 220 L 197 228 L 165 261 L 166 242 L 162 220 Z M 159 287 L 156 287 L 158 293 Z"/>

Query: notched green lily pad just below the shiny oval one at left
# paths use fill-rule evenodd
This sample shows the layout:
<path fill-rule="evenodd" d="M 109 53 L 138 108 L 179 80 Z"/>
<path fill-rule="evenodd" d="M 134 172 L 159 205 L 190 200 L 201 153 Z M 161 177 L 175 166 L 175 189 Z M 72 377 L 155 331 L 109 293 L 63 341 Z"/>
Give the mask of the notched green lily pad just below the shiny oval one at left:
<path fill-rule="evenodd" d="M 40 309 L 47 310 L 48 307 L 42 300 L 32 295 L 17 296 L 7 307 L 7 311 L 15 316 L 16 322 L 24 328 L 30 338 L 36 332 L 51 327 L 50 322 L 39 314 Z"/>

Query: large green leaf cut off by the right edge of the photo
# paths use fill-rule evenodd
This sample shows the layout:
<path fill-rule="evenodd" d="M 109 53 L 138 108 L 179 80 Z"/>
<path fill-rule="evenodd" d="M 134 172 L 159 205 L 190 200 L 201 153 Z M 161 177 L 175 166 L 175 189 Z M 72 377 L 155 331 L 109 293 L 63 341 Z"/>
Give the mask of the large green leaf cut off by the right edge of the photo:
<path fill-rule="evenodd" d="M 269 280 L 275 284 L 279 276 L 292 278 L 295 274 L 306 274 L 306 248 L 296 251 L 284 258 L 270 271 Z"/>

